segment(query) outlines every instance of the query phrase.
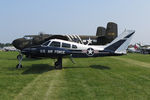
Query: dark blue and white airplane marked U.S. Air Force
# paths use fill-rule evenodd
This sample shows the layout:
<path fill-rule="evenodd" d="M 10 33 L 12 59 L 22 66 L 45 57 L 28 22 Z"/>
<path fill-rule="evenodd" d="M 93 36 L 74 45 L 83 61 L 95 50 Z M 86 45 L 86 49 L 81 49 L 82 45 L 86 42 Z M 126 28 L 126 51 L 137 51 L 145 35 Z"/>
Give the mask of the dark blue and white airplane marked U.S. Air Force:
<path fill-rule="evenodd" d="M 54 64 L 56 69 L 62 69 L 62 59 L 65 57 L 69 57 L 74 63 L 72 59 L 74 57 L 84 58 L 123 55 L 127 53 L 126 49 L 134 33 L 135 31 L 133 30 L 125 30 L 115 40 L 105 46 L 85 45 L 61 39 L 50 39 L 41 45 L 21 50 L 20 54 L 17 56 L 19 64 L 16 68 L 22 68 L 21 62 L 23 55 L 31 58 L 39 57 L 57 59 Z"/>

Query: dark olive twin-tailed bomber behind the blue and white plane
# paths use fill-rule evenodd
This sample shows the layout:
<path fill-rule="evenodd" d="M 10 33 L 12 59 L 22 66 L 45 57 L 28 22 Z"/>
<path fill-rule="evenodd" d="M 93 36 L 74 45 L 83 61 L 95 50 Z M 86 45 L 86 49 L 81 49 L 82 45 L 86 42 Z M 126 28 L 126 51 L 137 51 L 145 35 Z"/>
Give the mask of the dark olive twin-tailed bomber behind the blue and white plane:
<path fill-rule="evenodd" d="M 112 42 L 117 36 L 117 24 L 109 22 L 107 24 L 107 28 L 97 28 L 96 36 L 75 34 L 56 35 L 41 33 L 40 35 L 26 35 L 23 38 L 14 40 L 12 44 L 19 50 L 23 50 L 24 48 L 28 48 L 35 45 L 40 45 L 50 39 L 61 39 L 86 45 L 106 45 Z"/>

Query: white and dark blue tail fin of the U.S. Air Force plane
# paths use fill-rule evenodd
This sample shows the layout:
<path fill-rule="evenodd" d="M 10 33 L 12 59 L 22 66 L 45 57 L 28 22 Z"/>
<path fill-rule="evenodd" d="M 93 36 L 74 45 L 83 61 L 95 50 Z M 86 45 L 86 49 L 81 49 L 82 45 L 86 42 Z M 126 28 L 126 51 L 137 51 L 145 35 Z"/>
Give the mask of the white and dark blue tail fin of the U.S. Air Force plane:
<path fill-rule="evenodd" d="M 122 34 L 120 34 L 115 40 L 113 40 L 110 44 L 106 45 L 105 51 L 110 51 L 116 54 L 126 54 L 126 50 L 129 46 L 129 43 L 132 39 L 135 31 L 133 30 L 125 30 Z"/>

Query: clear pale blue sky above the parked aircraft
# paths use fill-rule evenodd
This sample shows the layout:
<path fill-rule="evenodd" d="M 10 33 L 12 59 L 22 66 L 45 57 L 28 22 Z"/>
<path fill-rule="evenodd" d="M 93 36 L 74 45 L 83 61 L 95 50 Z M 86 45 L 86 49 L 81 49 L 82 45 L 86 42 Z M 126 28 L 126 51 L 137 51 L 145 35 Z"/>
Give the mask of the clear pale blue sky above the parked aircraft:
<path fill-rule="evenodd" d="M 0 42 L 27 34 L 95 35 L 97 26 L 134 29 L 132 43 L 150 44 L 149 0 L 0 0 Z"/>

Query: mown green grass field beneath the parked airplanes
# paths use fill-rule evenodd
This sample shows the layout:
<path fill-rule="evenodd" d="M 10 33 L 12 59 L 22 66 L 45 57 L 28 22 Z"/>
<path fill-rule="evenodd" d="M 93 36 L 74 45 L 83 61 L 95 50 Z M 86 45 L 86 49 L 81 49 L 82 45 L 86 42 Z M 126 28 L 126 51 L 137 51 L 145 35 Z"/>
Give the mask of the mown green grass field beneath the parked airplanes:
<path fill-rule="evenodd" d="M 150 55 L 63 59 L 24 59 L 0 52 L 0 100 L 150 100 Z"/>

